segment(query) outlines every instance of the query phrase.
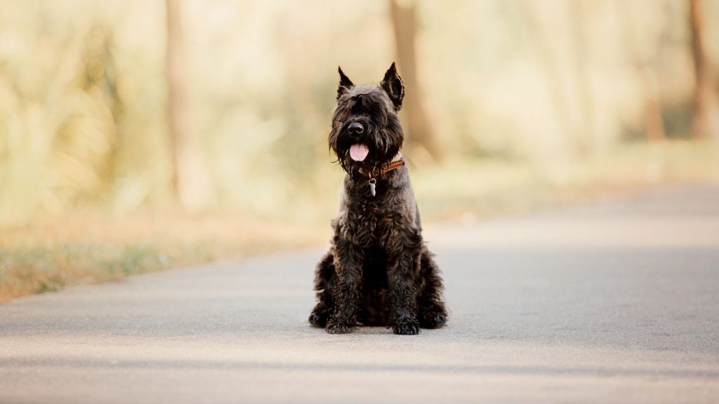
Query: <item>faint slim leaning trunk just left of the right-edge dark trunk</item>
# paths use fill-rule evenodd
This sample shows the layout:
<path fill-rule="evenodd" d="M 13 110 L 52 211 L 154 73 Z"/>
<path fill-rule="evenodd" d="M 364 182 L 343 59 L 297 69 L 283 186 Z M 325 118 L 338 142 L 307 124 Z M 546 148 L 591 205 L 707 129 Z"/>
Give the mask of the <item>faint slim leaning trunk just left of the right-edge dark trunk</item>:
<path fill-rule="evenodd" d="M 654 70 L 649 67 L 648 58 L 642 55 L 635 30 L 638 24 L 633 20 L 633 10 L 629 9 L 634 4 L 633 2 L 617 0 L 614 5 L 622 27 L 627 52 L 636 78 L 638 78 L 641 93 L 644 96 L 642 111 L 644 134 L 646 139 L 650 141 L 666 139 L 667 134 L 664 131 L 664 118 L 661 116 L 661 96 L 659 86 L 656 84 L 656 75 Z"/>

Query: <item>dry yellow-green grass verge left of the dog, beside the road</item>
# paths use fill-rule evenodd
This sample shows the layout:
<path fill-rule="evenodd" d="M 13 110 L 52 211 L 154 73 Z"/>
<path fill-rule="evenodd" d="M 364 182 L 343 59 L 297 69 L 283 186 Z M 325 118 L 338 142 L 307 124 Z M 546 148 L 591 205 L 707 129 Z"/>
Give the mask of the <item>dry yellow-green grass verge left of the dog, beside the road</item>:
<path fill-rule="evenodd" d="M 0 302 L 321 239 L 307 226 L 239 214 L 70 214 L 0 232 Z"/>

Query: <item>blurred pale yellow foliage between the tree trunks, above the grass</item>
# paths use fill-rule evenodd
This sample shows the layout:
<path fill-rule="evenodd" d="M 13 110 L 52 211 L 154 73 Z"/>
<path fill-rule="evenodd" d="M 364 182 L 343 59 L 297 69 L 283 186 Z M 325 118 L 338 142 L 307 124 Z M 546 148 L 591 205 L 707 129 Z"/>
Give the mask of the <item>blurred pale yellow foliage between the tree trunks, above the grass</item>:
<path fill-rule="evenodd" d="M 212 208 L 326 221 L 342 178 L 326 145 L 336 65 L 355 82 L 380 80 L 395 58 L 388 2 L 182 4 Z M 667 137 L 686 139 L 687 7 L 416 1 L 418 75 L 447 156 L 436 165 L 409 150 L 416 182 L 457 175 L 448 183 L 464 190 L 496 175 L 487 167 L 506 167 L 505 181 L 527 170 L 542 184 L 573 178 L 587 162 L 608 167 L 618 148 L 646 142 L 640 73 L 647 70 Z M 0 8 L 0 224 L 172 205 L 164 3 L 0 0 Z M 718 60 L 719 1 L 705 1 L 705 10 L 708 52 Z M 702 167 L 715 174 L 715 166 Z M 423 192 L 437 206 L 457 202 L 452 190 Z"/>

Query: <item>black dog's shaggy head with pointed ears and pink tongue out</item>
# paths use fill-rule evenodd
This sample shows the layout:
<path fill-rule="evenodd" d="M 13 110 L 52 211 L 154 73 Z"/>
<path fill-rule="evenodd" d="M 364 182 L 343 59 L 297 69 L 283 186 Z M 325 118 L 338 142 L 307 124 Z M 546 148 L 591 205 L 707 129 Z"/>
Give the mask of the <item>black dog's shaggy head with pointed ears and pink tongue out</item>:
<path fill-rule="evenodd" d="M 403 98 L 394 63 L 379 84 L 370 86 L 355 86 L 339 69 L 329 147 L 347 173 L 371 173 L 400 152 L 404 133 L 397 113 Z"/>

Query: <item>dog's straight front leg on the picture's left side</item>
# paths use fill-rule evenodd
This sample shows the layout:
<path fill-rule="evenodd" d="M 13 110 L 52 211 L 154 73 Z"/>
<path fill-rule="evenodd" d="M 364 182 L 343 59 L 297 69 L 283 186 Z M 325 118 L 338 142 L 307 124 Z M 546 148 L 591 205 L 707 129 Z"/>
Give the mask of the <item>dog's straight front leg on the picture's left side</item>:
<path fill-rule="evenodd" d="M 357 327 L 357 310 L 362 293 L 362 248 L 347 239 L 338 239 L 334 249 L 334 267 L 339 285 L 334 290 L 334 316 L 325 330 L 329 334 L 348 334 Z"/>

